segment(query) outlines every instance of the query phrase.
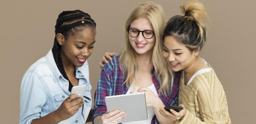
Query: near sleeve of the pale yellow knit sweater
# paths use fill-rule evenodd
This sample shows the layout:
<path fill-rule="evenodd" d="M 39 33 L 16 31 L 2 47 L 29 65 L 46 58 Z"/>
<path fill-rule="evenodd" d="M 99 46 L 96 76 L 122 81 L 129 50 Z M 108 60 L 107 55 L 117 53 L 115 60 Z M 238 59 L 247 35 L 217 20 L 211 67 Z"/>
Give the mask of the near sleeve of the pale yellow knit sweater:
<path fill-rule="evenodd" d="M 209 81 L 209 77 L 198 76 L 193 80 L 198 102 L 198 114 L 186 110 L 186 115 L 178 124 L 231 124 L 227 99 L 218 80 Z"/>

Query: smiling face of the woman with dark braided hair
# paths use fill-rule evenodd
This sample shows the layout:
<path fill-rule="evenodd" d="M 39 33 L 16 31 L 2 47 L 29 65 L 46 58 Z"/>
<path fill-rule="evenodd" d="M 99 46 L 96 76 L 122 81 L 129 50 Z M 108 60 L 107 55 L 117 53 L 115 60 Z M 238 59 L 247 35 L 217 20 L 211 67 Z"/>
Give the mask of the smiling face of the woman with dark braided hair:
<path fill-rule="evenodd" d="M 69 35 L 67 39 L 62 34 L 57 34 L 61 45 L 61 58 L 63 65 L 81 67 L 86 59 L 93 53 L 95 42 L 95 29 L 85 27 L 82 31 Z"/>

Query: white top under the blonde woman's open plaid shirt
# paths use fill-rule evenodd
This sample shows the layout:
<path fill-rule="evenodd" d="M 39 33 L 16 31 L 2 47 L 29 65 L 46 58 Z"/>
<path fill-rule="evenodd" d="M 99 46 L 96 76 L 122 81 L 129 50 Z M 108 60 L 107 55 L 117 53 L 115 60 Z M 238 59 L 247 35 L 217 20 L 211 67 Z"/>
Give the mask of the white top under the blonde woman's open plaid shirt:
<path fill-rule="evenodd" d="M 131 94 L 131 93 L 138 93 L 137 90 L 140 87 L 137 87 L 135 85 L 131 85 L 127 91 L 126 94 Z M 150 89 L 154 95 L 158 96 L 157 94 L 157 89 L 156 87 L 154 87 L 154 84 L 152 84 L 151 86 L 147 87 L 148 89 Z M 122 124 L 151 124 L 151 120 L 154 117 L 154 110 L 153 107 L 147 107 L 147 113 L 148 113 L 148 119 L 147 120 L 143 120 L 143 121 L 133 121 L 133 122 L 126 122 L 126 123 L 122 123 Z"/>

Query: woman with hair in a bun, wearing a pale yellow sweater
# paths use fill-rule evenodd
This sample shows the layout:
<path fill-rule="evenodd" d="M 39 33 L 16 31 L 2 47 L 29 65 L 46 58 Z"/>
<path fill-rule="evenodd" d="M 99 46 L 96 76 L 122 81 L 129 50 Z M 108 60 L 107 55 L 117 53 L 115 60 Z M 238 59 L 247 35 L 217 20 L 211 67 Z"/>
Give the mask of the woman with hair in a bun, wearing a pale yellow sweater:
<path fill-rule="evenodd" d="M 163 56 L 173 71 L 182 71 L 179 104 L 183 110 L 160 113 L 179 124 L 230 124 L 227 98 L 213 68 L 198 56 L 207 39 L 202 3 L 192 1 L 180 7 L 183 16 L 172 17 L 164 30 Z"/>

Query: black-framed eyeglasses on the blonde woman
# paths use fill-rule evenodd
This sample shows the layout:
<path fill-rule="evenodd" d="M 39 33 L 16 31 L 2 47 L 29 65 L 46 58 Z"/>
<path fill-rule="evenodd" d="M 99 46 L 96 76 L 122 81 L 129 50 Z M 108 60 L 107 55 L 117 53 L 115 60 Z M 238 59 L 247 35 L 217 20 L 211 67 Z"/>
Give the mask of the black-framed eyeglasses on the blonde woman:
<path fill-rule="evenodd" d="M 140 31 L 134 28 L 128 28 L 127 31 L 131 37 L 138 37 L 140 32 L 142 32 L 142 36 L 145 39 L 151 39 L 154 36 L 154 31 L 150 31 L 150 30 Z"/>

